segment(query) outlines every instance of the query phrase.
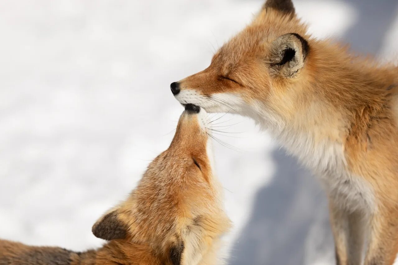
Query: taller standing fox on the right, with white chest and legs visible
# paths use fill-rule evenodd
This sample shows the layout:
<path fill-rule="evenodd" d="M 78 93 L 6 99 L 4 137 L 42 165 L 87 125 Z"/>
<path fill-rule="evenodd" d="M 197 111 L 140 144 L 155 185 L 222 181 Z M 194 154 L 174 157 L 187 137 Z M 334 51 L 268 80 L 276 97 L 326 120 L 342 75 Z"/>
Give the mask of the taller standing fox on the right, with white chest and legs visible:
<path fill-rule="evenodd" d="M 322 180 L 338 264 L 393 263 L 396 66 L 312 38 L 291 0 L 267 0 L 208 68 L 172 83 L 171 90 L 182 104 L 252 117 Z"/>

